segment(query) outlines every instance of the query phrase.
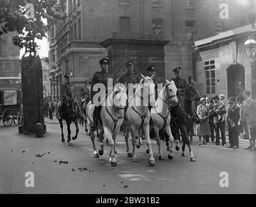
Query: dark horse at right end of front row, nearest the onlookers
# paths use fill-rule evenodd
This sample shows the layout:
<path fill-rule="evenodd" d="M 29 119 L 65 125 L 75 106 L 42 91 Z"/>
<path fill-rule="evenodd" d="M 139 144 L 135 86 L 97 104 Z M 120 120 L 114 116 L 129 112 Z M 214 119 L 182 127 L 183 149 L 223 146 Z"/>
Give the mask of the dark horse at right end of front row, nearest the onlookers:
<path fill-rule="evenodd" d="M 187 144 L 187 146 L 189 147 L 191 162 L 195 162 L 196 159 L 194 158 L 191 150 L 189 133 L 191 133 L 191 129 L 196 120 L 194 99 L 200 98 L 200 94 L 198 92 L 198 84 L 194 80 L 191 80 L 191 77 L 189 77 L 189 83 L 185 88 L 184 94 L 178 94 L 180 96 L 180 104 L 178 104 L 176 107 L 170 108 L 170 114 L 172 114 L 172 118 L 174 120 L 174 122 L 171 124 L 172 135 L 174 136 L 174 140 L 178 140 L 178 133 L 180 129 L 183 142 L 181 155 L 183 157 L 187 157 L 187 155 L 185 154 L 185 146 Z M 168 150 L 169 142 L 167 142 L 166 144 Z"/>

